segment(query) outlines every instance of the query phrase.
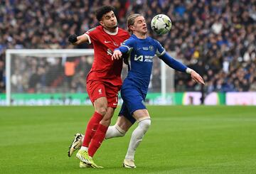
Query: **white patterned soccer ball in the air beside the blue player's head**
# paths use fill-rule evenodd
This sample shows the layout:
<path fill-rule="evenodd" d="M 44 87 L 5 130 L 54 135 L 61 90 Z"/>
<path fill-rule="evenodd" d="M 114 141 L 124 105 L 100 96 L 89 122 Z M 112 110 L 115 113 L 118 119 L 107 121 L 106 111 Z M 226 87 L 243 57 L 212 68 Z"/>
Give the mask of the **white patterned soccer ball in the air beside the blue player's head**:
<path fill-rule="evenodd" d="M 166 34 L 171 30 L 171 19 L 164 14 L 158 14 L 152 18 L 151 28 L 158 35 Z"/>

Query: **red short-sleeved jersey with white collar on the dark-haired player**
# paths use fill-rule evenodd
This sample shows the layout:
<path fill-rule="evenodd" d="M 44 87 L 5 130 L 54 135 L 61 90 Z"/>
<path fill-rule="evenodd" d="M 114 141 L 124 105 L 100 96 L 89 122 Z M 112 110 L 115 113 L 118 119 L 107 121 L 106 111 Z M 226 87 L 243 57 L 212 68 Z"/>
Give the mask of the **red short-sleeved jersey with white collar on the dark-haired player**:
<path fill-rule="evenodd" d="M 112 85 L 122 85 L 122 59 L 112 60 L 110 53 L 129 38 L 129 33 L 121 28 L 117 28 L 116 33 L 110 33 L 102 26 L 97 26 L 87 31 L 85 35 L 89 43 L 92 43 L 95 54 L 87 81 L 98 80 L 110 82 Z"/>

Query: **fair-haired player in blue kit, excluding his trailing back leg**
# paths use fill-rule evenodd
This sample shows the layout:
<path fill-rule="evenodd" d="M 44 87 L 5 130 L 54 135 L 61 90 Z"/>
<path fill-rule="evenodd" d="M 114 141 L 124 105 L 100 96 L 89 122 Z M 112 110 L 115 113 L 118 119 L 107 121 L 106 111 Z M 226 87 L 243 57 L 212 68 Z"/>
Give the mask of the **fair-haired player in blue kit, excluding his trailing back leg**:
<path fill-rule="evenodd" d="M 171 58 L 158 41 L 146 36 L 147 28 L 144 16 L 141 14 L 132 14 L 127 18 L 127 26 L 129 31 L 132 32 L 132 36 L 124 41 L 119 48 L 114 50 L 112 60 L 118 60 L 122 58 L 123 54 L 129 54 L 129 58 L 124 60 L 128 65 L 128 75 L 121 88 L 121 97 L 124 103 L 122 104 L 119 116 L 124 116 L 132 124 L 135 121 L 138 123 L 137 128 L 132 132 L 127 155 L 124 159 L 124 167 L 135 168 L 135 150 L 151 124 L 149 112 L 144 105 L 144 100 L 149 87 L 155 55 L 163 60 L 166 65 L 174 68 L 174 70 L 187 72 L 193 80 L 203 85 L 204 82 L 201 75 L 198 75 L 191 68 Z"/>

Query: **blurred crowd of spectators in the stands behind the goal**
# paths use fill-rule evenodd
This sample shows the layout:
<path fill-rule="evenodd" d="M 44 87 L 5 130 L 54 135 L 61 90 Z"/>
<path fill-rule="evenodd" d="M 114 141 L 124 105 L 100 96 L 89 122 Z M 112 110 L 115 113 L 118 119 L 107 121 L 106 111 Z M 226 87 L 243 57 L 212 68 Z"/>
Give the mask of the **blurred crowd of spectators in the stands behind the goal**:
<path fill-rule="evenodd" d="M 70 45 L 67 38 L 97 26 L 94 12 L 102 5 L 114 6 L 120 28 L 127 28 L 127 15 L 142 13 L 149 36 L 206 81 L 201 87 L 188 75 L 176 72 L 176 92 L 256 91 L 255 0 L 5 0 L 0 1 L 0 93 L 5 92 L 6 49 L 92 48 Z M 151 18 L 158 13 L 168 15 L 173 23 L 166 36 L 156 36 L 150 29 Z M 17 92 L 49 92 L 58 85 L 83 92 L 92 58 L 68 59 L 16 59 L 11 82 Z M 151 83 L 155 89 L 160 88 L 157 61 Z M 22 74 L 18 70 L 29 71 Z"/>

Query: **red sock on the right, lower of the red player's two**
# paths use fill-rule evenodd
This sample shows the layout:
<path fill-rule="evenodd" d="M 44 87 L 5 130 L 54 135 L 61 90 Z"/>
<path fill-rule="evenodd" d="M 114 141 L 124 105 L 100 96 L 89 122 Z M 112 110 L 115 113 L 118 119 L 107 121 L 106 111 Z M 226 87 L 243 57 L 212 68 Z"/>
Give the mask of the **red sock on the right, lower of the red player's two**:
<path fill-rule="evenodd" d="M 108 128 L 107 126 L 103 126 L 102 124 L 99 124 L 97 131 L 96 131 L 95 135 L 92 137 L 92 141 L 88 148 L 89 156 L 91 156 L 91 157 L 94 156 L 97 149 L 100 148 L 100 145 L 105 138 L 107 128 Z"/>

